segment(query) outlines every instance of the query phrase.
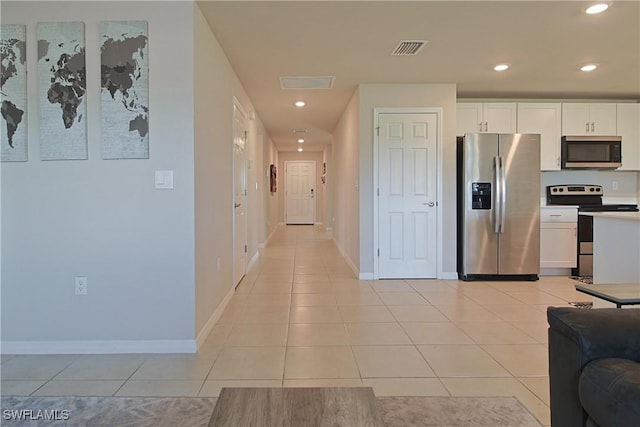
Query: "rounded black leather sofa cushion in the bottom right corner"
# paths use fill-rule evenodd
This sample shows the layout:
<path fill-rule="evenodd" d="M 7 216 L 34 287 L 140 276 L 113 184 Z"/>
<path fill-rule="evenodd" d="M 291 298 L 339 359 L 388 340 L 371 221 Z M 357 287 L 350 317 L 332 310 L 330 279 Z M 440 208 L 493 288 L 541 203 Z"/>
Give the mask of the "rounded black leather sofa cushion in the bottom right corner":
<path fill-rule="evenodd" d="M 640 426 L 640 363 L 594 360 L 584 367 L 578 389 L 584 410 L 598 425 Z"/>

